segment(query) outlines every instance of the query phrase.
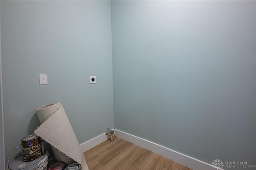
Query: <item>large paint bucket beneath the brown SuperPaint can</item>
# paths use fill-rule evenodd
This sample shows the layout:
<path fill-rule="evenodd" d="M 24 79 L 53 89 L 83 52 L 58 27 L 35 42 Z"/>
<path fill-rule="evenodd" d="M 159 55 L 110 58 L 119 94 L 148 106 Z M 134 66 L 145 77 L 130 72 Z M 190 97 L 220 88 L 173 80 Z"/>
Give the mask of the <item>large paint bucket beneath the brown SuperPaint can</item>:
<path fill-rule="evenodd" d="M 46 150 L 39 158 L 30 162 L 24 162 L 23 155 L 21 154 L 10 161 L 10 163 L 7 165 L 7 170 L 33 170 L 37 168 L 44 169 L 48 164 L 48 156 L 49 153 Z"/>

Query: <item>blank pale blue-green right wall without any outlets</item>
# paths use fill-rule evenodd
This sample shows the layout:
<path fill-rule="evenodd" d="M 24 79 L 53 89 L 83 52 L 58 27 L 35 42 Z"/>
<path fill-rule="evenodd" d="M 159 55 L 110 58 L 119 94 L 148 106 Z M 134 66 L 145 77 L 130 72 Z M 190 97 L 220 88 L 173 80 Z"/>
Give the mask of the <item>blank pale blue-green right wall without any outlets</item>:
<path fill-rule="evenodd" d="M 112 1 L 114 127 L 256 164 L 256 2 Z"/>

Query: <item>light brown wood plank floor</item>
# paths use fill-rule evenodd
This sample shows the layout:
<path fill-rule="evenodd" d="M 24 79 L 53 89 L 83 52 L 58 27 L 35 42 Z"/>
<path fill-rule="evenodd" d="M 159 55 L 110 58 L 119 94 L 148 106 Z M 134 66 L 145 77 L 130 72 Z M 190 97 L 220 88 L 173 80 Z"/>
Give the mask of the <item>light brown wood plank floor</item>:
<path fill-rule="evenodd" d="M 190 170 L 118 137 L 87 150 L 84 157 L 90 170 Z"/>

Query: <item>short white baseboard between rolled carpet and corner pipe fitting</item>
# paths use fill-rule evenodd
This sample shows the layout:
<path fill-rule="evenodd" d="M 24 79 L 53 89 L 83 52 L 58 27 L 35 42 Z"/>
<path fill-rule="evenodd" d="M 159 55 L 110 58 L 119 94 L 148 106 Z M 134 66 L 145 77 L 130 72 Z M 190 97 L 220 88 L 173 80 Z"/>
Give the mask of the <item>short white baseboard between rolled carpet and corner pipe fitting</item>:
<path fill-rule="evenodd" d="M 80 144 L 80 148 L 83 152 L 86 152 L 87 150 L 95 147 L 96 145 L 99 145 L 100 143 L 106 141 L 109 138 L 110 138 L 109 135 L 106 135 L 106 133 L 103 133 L 85 143 Z"/>

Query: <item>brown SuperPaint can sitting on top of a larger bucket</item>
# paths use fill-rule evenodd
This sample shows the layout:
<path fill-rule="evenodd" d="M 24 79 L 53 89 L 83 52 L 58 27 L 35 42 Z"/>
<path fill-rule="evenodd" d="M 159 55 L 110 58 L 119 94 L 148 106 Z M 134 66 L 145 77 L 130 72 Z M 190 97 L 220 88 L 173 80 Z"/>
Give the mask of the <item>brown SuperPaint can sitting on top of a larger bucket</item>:
<path fill-rule="evenodd" d="M 36 134 L 29 135 L 21 140 L 22 150 L 20 151 L 23 154 L 24 162 L 35 160 L 44 154 L 43 141 Z"/>

